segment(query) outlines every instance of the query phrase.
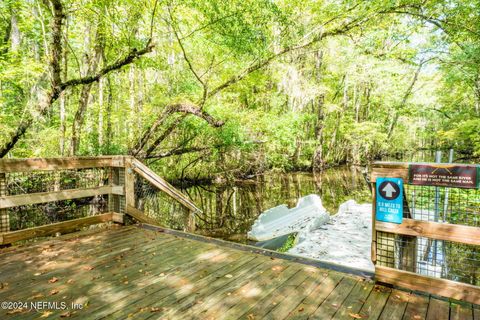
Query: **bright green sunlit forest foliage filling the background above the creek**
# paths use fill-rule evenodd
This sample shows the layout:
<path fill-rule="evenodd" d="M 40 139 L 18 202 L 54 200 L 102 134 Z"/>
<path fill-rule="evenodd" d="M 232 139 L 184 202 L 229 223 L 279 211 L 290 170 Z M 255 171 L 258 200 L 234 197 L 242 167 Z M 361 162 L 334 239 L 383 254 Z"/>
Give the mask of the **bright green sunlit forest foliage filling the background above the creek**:
<path fill-rule="evenodd" d="M 308 169 L 319 153 L 326 165 L 418 149 L 480 155 L 478 0 L 158 1 L 155 16 L 154 0 L 62 3 L 65 79 L 88 73 L 100 38 L 100 67 L 142 48 L 150 33 L 155 44 L 92 85 L 78 155 L 128 153 L 168 106 L 184 102 L 225 124 L 164 121 L 154 138 L 170 132 L 149 161 L 170 178 Z M 48 91 L 51 23 L 42 1 L 0 3 L 0 144 Z M 225 83 L 203 104 L 205 88 Z M 65 120 L 57 101 L 10 155 L 56 156 L 62 138 L 68 154 L 81 90 L 65 92 Z"/>

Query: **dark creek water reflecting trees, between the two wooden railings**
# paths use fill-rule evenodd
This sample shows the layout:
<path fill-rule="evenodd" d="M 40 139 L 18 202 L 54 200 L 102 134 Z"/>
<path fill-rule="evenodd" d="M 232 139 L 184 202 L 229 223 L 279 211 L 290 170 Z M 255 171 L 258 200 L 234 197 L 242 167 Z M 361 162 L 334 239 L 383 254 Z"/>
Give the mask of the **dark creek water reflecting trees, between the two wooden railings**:
<path fill-rule="evenodd" d="M 183 189 L 203 210 L 196 216 L 196 232 L 203 235 L 246 241 L 246 233 L 263 211 L 287 204 L 294 207 L 309 194 L 321 197 L 334 214 L 348 199 L 370 202 L 370 189 L 358 167 L 340 167 L 314 176 L 311 173 L 269 173 L 228 185 L 194 186 Z"/>

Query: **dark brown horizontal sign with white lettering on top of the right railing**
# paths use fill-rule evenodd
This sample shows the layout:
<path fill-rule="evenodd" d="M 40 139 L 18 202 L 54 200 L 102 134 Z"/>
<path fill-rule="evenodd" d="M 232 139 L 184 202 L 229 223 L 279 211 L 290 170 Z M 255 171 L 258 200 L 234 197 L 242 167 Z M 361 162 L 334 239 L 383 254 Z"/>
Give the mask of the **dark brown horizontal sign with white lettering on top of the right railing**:
<path fill-rule="evenodd" d="M 479 188 L 480 166 L 459 164 L 411 164 L 408 183 L 420 186 Z"/>

